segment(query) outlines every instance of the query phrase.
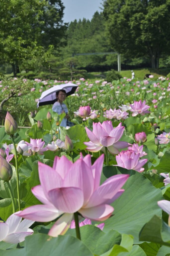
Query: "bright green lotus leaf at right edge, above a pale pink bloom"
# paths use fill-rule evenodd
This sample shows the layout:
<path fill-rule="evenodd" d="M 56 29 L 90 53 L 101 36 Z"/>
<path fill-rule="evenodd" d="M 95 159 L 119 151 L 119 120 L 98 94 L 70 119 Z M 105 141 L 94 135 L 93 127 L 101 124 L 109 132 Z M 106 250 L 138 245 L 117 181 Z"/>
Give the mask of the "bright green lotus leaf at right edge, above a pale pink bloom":
<path fill-rule="evenodd" d="M 159 165 L 155 166 L 154 169 L 158 173 L 170 172 L 170 148 L 165 151 L 165 154 L 160 159 Z"/>

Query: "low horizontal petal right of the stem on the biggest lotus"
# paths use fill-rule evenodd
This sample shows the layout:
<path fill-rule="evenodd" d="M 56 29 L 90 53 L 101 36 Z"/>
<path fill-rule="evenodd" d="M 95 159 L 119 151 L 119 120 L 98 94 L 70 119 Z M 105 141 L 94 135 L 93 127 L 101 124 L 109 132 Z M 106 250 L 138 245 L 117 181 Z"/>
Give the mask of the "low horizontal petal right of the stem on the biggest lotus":
<path fill-rule="evenodd" d="M 114 211 L 114 208 L 107 204 L 98 205 L 91 208 L 81 208 L 79 210 L 80 214 L 84 218 L 88 218 L 91 220 L 98 220 L 98 221 L 107 220 L 111 216 L 113 211 Z"/>

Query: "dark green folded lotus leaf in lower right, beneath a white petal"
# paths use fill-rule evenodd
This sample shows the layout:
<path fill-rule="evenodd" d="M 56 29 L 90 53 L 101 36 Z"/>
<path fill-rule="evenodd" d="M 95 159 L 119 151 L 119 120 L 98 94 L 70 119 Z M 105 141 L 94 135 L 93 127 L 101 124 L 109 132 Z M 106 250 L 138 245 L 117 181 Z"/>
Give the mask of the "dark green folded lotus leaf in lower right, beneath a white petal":
<path fill-rule="evenodd" d="M 170 247 L 170 227 L 161 219 L 154 215 L 141 229 L 140 241 L 150 241 Z"/>

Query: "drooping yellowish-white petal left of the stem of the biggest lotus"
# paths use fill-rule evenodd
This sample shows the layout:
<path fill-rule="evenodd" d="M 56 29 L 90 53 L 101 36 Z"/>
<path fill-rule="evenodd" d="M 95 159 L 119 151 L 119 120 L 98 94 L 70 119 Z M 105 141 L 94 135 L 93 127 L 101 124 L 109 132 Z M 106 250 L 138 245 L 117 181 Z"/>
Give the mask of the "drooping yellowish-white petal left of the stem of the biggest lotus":
<path fill-rule="evenodd" d="M 73 219 L 73 214 L 65 213 L 61 218 L 59 218 L 53 227 L 48 232 L 49 236 L 58 237 L 58 235 L 64 235 L 69 229 L 71 220 Z"/>

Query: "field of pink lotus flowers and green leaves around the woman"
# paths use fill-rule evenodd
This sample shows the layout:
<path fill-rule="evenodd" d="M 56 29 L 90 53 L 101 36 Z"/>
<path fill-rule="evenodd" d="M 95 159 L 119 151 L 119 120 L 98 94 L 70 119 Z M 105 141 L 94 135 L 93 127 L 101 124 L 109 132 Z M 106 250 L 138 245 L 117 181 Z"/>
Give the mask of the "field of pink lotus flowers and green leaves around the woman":
<path fill-rule="evenodd" d="M 36 102 L 67 82 L 27 81 L 29 128 L 0 128 L 1 255 L 170 255 L 169 78 L 73 81 L 62 127 Z"/>

